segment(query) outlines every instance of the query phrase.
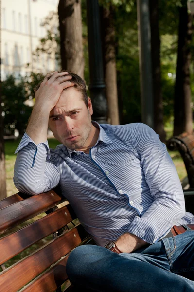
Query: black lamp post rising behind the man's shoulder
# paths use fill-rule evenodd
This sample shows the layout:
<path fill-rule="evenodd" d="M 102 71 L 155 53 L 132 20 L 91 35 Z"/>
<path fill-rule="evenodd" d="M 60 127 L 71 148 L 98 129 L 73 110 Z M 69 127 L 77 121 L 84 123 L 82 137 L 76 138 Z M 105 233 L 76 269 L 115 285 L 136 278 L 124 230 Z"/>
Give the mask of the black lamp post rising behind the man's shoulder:
<path fill-rule="evenodd" d="M 107 123 L 107 101 L 103 73 L 102 43 L 100 36 L 100 13 L 98 0 L 87 0 L 89 91 L 93 105 L 93 120 Z"/>

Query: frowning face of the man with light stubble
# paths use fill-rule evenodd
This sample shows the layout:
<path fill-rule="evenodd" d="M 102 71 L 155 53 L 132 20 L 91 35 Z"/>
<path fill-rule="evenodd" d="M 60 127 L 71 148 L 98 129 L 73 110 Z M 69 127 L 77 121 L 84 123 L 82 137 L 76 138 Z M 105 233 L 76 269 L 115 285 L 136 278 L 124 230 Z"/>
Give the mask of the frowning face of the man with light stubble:
<path fill-rule="evenodd" d="M 92 113 L 90 98 L 87 108 L 82 94 L 73 87 L 67 88 L 50 112 L 49 128 L 63 145 L 83 151 L 91 138 Z"/>

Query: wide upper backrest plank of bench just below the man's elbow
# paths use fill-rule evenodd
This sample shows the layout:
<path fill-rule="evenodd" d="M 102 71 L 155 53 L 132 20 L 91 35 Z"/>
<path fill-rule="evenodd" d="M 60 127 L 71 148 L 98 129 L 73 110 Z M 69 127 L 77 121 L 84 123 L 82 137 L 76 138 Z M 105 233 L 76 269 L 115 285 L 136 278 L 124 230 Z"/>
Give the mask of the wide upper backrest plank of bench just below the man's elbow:
<path fill-rule="evenodd" d="M 0 234 L 65 200 L 52 190 L 1 209 Z"/>

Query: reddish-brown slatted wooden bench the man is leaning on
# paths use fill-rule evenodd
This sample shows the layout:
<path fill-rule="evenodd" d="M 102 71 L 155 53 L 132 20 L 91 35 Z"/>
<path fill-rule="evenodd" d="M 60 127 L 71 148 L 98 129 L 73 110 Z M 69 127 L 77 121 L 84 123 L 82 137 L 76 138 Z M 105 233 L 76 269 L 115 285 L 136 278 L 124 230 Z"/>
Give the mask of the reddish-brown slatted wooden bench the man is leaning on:
<path fill-rule="evenodd" d="M 92 241 L 70 204 L 54 190 L 31 197 L 17 193 L 0 201 L 0 234 L 0 292 L 73 291 L 66 274 L 69 253 Z M 20 253 L 23 258 L 13 263 Z"/>

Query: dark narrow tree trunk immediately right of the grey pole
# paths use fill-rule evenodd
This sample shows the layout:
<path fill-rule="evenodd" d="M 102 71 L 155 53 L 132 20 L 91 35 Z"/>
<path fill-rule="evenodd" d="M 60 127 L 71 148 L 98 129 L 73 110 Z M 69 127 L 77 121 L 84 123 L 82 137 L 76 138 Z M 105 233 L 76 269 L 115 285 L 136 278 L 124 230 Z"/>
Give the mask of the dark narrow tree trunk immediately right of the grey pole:
<path fill-rule="evenodd" d="M 150 8 L 150 31 L 151 31 L 151 52 L 152 52 L 152 84 L 154 98 L 154 130 L 159 134 L 160 140 L 165 142 L 164 131 L 163 98 L 161 91 L 161 70 L 160 70 L 160 37 L 159 37 L 159 12 L 158 0 L 149 1 Z"/>

